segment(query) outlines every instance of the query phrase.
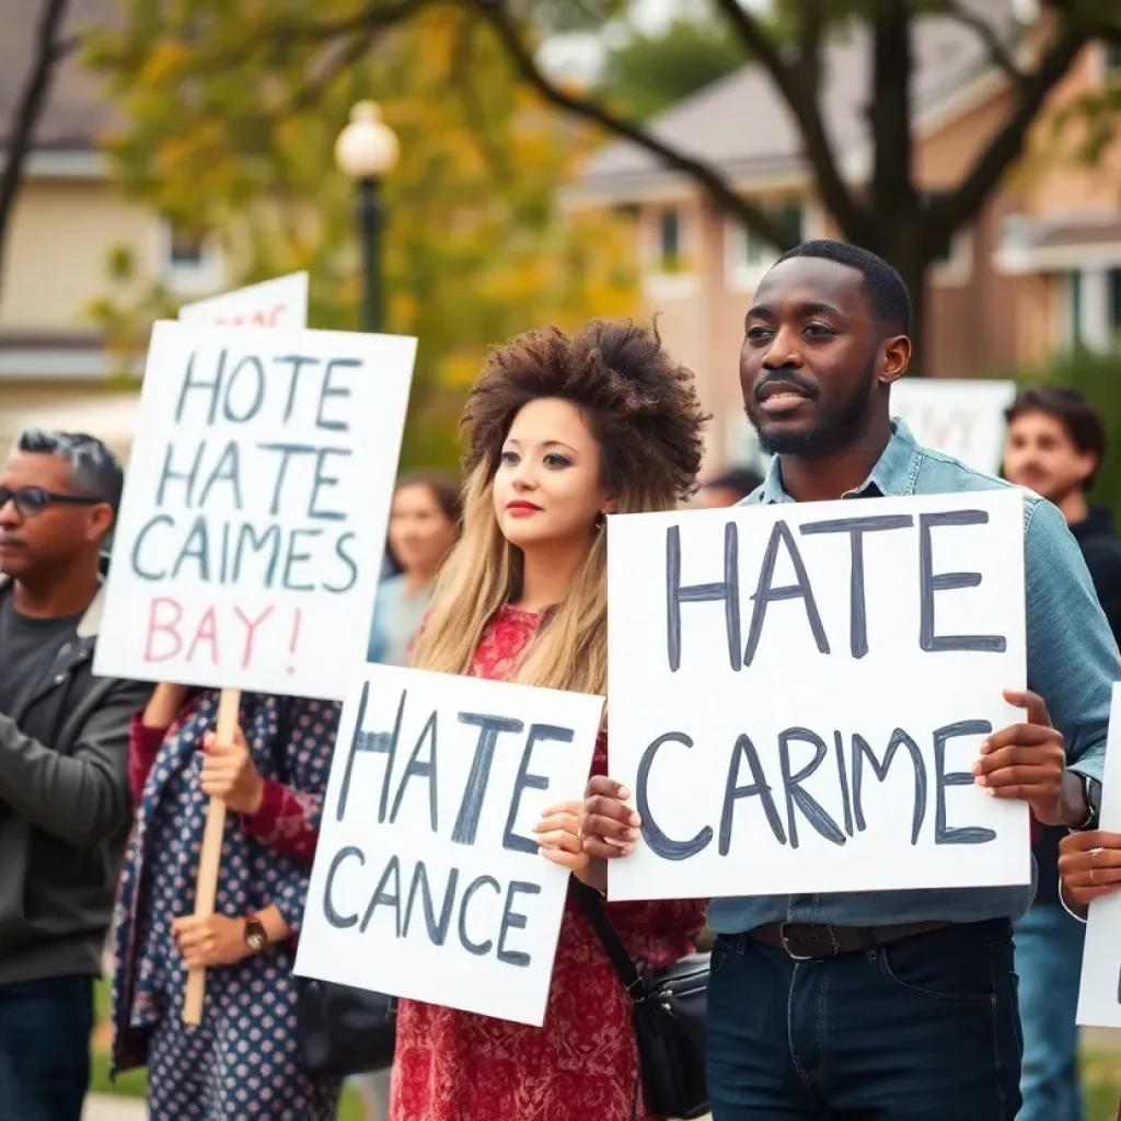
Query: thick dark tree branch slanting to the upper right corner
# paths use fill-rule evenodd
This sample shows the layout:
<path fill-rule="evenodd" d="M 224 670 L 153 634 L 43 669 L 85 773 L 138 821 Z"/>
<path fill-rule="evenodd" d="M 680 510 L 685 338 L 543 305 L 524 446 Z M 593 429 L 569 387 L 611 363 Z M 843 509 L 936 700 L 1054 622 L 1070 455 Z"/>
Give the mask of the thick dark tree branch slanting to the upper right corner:
<path fill-rule="evenodd" d="M 1044 102 L 1069 70 L 1087 38 L 1084 29 L 1063 29 L 1037 68 L 1025 74 L 1016 105 L 1003 128 L 989 141 L 957 189 L 943 195 L 930 206 L 928 244 L 946 244 L 980 211 L 1001 176 L 1023 151 L 1028 130 Z"/>

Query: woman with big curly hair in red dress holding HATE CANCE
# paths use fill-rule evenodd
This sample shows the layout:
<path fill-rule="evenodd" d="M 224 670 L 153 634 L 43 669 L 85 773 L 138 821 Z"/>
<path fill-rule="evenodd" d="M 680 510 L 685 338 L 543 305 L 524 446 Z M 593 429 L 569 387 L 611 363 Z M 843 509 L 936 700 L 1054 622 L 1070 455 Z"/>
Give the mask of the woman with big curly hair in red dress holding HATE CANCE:
<path fill-rule="evenodd" d="M 657 334 L 593 323 L 495 350 L 467 399 L 463 536 L 413 663 L 604 694 L 609 513 L 694 488 L 705 417 Z M 601 734 L 593 771 L 606 765 Z M 578 795 L 577 795 L 578 797 Z M 578 802 L 546 812 L 541 854 L 591 880 Z M 633 957 L 691 953 L 704 905 L 608 904 Z M 646 1121 L 631 1003 L 569 891 L 540 1028 L 401 1001 L 392 1121 Z"/>

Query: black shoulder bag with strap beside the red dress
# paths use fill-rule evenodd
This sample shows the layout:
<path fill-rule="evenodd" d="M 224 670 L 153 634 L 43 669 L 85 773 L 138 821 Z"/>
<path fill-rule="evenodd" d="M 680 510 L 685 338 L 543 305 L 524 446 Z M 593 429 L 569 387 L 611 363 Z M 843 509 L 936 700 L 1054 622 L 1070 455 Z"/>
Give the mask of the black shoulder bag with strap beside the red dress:
<path fill-rule="evenodd" d="M 708 1112 L 708 954 L 692 954 L 642 976 L 608 918 L 603 898 L 575 878 L 581 907 L 631 999 L 646 1108 L 655 1117 L 692 1121 Z"/>

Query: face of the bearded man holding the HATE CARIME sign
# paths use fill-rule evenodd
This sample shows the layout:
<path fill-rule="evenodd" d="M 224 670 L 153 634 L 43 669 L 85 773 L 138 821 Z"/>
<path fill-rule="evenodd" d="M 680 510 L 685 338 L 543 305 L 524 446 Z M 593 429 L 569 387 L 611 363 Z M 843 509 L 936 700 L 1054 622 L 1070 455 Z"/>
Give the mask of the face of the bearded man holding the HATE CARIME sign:
<path fill-rule="evenodd" d="M 855 269 L 810 257 L 763 277 L 747 316 L 740 388 L 765 451 L 828 455 L 863 430 L 883 355 L 862 281 Z"/>

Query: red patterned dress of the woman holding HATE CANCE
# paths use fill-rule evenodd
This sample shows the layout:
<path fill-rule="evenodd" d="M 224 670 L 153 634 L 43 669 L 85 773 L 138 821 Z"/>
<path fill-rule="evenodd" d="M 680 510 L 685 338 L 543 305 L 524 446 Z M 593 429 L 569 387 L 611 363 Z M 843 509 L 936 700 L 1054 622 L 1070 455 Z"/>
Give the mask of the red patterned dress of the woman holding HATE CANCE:
<path fill-rule="evenodd" d="M 502 608 L 471 674 L 503 680 L 539 615 Z M 606 769 L 600 738 L 593 770 Z M 609 904 L 632 956 L 654 967 L 691 953 L 702 900 Z M 650 1121 L 630 1001 L 569 891 L 545 1023 L 512 1023 L 402 1000 L 390 1121 Z"/>

